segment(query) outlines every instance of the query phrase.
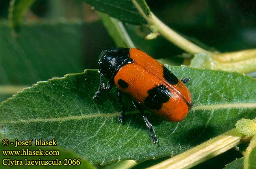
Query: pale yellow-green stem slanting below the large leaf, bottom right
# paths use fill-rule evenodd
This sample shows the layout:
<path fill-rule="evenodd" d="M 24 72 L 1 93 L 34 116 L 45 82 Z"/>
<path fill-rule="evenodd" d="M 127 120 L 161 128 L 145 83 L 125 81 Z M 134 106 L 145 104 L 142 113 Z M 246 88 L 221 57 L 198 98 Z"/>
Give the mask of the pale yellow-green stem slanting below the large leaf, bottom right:
<path fill-rule="evenodd" d="M 241 144 L 244 134 L 232 129 L 147 169 L 188 169 Z"/>

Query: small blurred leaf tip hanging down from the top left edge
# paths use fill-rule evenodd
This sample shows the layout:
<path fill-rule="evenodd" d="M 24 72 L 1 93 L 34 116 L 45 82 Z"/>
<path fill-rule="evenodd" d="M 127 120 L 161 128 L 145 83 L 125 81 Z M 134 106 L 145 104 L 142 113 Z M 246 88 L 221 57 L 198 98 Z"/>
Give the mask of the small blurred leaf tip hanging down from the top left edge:
<path fill-rule="evenodd" d="M 9 20 L 15 32 L 20 31 L 25 12 L 31 7 L 35 0 L 11 0 L 9 7 Z"/>

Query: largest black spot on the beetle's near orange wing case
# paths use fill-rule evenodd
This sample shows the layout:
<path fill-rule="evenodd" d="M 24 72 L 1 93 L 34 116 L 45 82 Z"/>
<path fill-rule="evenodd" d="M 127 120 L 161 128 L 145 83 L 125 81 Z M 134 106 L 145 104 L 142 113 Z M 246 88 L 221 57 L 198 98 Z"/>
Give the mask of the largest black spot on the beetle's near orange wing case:
<path fill-rule="evenodd" d="M 158 85 L 148 91 L 144 104 L 152 110 L 160 110 L 163 103 L 168 102 L 171 91 L 165 85 Z"/>

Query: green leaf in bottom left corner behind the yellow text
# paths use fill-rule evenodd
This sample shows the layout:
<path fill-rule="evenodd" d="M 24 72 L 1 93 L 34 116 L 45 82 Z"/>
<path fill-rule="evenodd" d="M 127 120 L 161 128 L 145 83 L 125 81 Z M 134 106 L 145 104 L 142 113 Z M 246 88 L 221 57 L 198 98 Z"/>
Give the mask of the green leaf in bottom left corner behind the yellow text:
<path fill-rule="evenodd" d="M 2 139 L 1 139 L 1 142 L 2 142 Z M 13 141 L 14 142 L 14 141 Z M 34 143 L 34 141 L 33 141 Z M 59 153 L 59 155 L 48 155 L 48 156 L 42 156 L 42 155 L 39 155 L 39 156 L 28 156 L 28 155 L 3 155 L 2 151 L 20 151 L 20 153 L 22 153 L 22 149 L 25 150 L 26 152 L 26 149 L 28 149 L 28 151 L 39 151 L 39 149 L 41 149 L 43 152 L 42 153 L 45 153 L 45 151 L 52 151 L 52 153 Z M 13 145 L 7 145 L 7 146 L 3 146 L 2 144 L 0 144 L 0 150 L 1 150 L 1 153 L 0 153 L 0 159 L 1 159 L 1 163 L 0 163 L 0 168 L 1 169 L 9 169 L 10 166 L 9 165 L 3 165 L 2 164 L 2 160 L 3 159 L 10 159 L 10 160 L 19 160 L 19 161 L 22 161 L 22 164 L 23 165 L 13 165 L 11 168 L 14 168 L 14 169 L 34 169 L 35 168 L 35 165 L 30 165 L 30 166 L 26 166 L 25 165 L 25 158 L 27 160 L 35 160 L 35 161 L 39 161 L 39 159 L 41 161 L 44 161 L 44 160 L 48 160 L 48 161 L 56 161 L 56 159 L 58 159 L 58 161 L 61 161 L 61 164 L 62 165 L 55 165 L 54 166 L 54 169 L 95 169 L 95 167 L 93 165 L 91 165 L 88 160 L 84 159 L 84 158 L 81 158 L 80 156 L 78 156 L 77 154 L 74 154 L 73 152 L 71 151 L 68 151 L 68 150 L 65 150 L 61 147 L 56 147 L 56 146 L 35 146 L 35 145 L 32 145 L 32 146 L 20 146 L 20 147 L 14 147 Z M 81 159 L 80 162 L 81 164 L 80 165 L 63 165 L 65 163 L 64 159 Z M 75 161 L 76 161 L 75 160 Z M 6 164 L 6 161 L 4 161 L 5 164 Z M 57 163 L 58 164 L 58 163 Z M 36 166 L 37 169 L 52 169 L 53 168 L 53 165 L 37 165 Z"/>

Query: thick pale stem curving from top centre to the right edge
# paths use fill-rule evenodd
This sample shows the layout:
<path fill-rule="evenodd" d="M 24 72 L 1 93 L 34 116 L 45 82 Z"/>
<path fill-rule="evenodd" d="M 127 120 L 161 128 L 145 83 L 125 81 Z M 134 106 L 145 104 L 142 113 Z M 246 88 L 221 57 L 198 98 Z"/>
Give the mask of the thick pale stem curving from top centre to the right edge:
<path fill-rule="evenodd" d="M 137 3 L 137 0 L 132 0 L 132 2 L 141 13 L 141 16 L 147 20 L 148 24 L 154 26 L 158 33 L 160 33 L 163 37 L 188 53 L 197 54 L 202 52 L 209 54 L 212 56 L 213 61 L 218 63 L 218 66 L 216 65 L 216 69 L 222 69 L 225 71 L 235 70 L 239 73 L 249 73 L 255 71 L 256 49 L 221 54 L 212 53 L 199 47 L 198 45 L 193 44 L 189 40 L 186 40 L 173 29 L 161 22 L 161 20 L 159 20 L 152 12 L 146 15 L 143 12 L 142 7 Z M 209 67 L 211 67 L 211 65 L 209 65 Z"/>

